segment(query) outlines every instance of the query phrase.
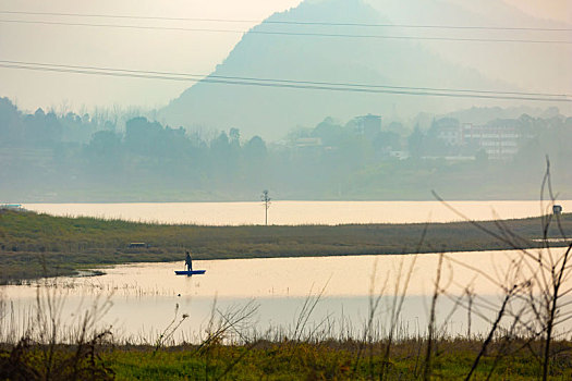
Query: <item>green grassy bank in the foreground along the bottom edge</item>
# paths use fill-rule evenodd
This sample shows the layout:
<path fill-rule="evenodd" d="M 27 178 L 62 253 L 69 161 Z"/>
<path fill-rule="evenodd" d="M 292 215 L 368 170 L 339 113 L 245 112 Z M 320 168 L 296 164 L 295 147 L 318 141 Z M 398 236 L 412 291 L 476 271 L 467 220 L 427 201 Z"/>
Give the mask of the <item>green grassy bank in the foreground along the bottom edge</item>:
<path fill-rule="evenodd" d="M 438 341 L 438 353 L 431 365 L 430 379 L 464 379 L 478 354 L 483 341 L 478 339 L 443 339 Z M 474 373 L 475 380 L 535 380 L 540 368 L 531 352 L 504 353 L 502 341 L 495 341 Z M 360 360 L 360 351 L 367 345 L 368 353 Z M 260 340 L 248 345 L 179 345 L 157 349 L 151 345 L 109 345 L 95 347 L 94 361 L 78 359 L 76 376 L 100 380 L 418 380 L 423 378 L 424 354 L 427 345 L 422 339 L 393 343 L 392 357 L 385 360 L 386 342 L 362 343 L 360 341 L 324 341 L 312 343 L 268 342 Z M 537 349 L 539 342 L 531 343 Z M 572 377 L 572 342 L 560 341 L 558 364 L 551 368 L 549 380 L 565 380 Z M 77 345 L 54 347 L 54 365 L 66 365 L 52 371 L 53 379 L 72 379 Z M 20 357 L 13 356 L 13 347 L 0 346 L 0 365 L 5 370 L 42 373 L 42 347 L 24 348 Z M 22 351 L 21 351 L 22 352 Z M 86 357 L 92 355 L 85 345 Z M 17 352 L 16 352 L 17 354 Z M 10 357 L 12 355 L 12 357 Z M 500 358 L 499 358 L 500 356 Z M 15 358 L 14 358 L 15 357 Z M 34 361 L 33 359 L 36 359 Z M 40 361 L 38 361 L 40 360 Z M 39 364 L 38 364 L 39 362 Z M 11 366 L 11 367 L 10 367 Z M 16 376 L 12 374 L 0 376 Z M 10 378 L 10 377 L 9 377 Z"/>

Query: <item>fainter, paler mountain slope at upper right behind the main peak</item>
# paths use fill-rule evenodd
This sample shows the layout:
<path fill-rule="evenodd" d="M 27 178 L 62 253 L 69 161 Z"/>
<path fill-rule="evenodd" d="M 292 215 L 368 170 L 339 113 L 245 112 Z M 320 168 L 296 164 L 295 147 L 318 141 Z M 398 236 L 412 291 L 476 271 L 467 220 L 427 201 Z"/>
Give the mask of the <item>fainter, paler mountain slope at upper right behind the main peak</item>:
<path fill-rule="evenodd" d="M 564 30 L 523 30 L 525 28 L 570 29 L 572 25 L 525 14 L 502 0 L 367 0 L 394 24 L 512 27 L 512 30 L 407 29 L 407 34 L 513 40 L 570 40 Z M 535 93 L 570 93 L 572 46 L 524 42 L 426 41 L 425 47 L 443 59 L 476 67 L 491 78 Z"/>

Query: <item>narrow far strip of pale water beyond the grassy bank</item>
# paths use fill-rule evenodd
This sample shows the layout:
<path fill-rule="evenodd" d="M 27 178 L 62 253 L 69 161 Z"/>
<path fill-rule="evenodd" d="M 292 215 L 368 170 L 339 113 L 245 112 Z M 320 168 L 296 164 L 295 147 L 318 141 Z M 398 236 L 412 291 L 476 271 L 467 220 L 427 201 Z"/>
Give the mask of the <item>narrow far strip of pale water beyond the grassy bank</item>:
<path fill-rule="evenodd" d="M 558 201 L 564 211 L 571 200 Z M 450 201 L 472 220 L 536 217 L 551 212 L 540 201 Z M 146 204 L 26 204 L 24 208 L 54 216 L 204 225 L 264 224 L 261 202 L 146 202 Z M 462 221 L 439 201 L 272 201 L 270 224 L 416 223 Z"/>

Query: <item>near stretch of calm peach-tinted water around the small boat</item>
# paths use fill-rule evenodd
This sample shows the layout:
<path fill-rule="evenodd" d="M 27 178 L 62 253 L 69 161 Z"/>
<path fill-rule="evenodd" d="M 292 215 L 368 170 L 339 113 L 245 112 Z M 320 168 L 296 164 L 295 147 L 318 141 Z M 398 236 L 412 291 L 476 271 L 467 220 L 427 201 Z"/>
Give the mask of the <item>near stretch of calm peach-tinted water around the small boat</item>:
<path fill-rule="evenodd" d="M 562 249 L 532 250 L 531 255 L 548 259 L 561 253 Z M 445 255 L 440 287 L 446 295 L 438 303 L 438 321 L 445 324 L 443 329 L 450 334 L 466 332 L 470 320 L 465 291 L 470 287 L 478 295 L 473 306 L 472 332 L 486 332 L 501 304 L 502 286 L 510 288 L 533 270 L 524 265 L 516 267 L 522 258 L 522 253 L 514 250 Z M 7 302 L 4 314 L 0 314 L 0 329 L 4 334 L 22 335 L 35 324 L 39 296 L 45 309 L 49 297 L 51 305 L 60 306 L 64 332 L 77 329 L 77 319 L 85 310 L 94 306 L 105 309 L 108 300 L 110 309 L 98 319 L 98 324 L 112 325 L 117 340 L 133 343 L 154 343 L 183 314 L 188 318 L 174 332 L 174 342 L 198 341 L 210 317 L 232 318 L 250 312 L 252 316 L 242 323 L 259 333 L 294 332 L 296 321 L 307 315 L 304 327 L 308 330 L 327 328 L 330 335 L 345 332 L 360 336 L 370 303 L 380 297 L 375 320 L 382 328 L 395 295 L 403 293 L 400 329 L 402 334 L 415 334 L 425 332 L 438 263 L 438 254 L 197 260 L 194 268 L 207 272 L 195 276 L 174 275 L 183 262 L 117 266 L 102 269 L 106 274 L 101 276 L 0 287 Z M 305 314 L 304 305 L 312 305 L 316 298 L 319 300 L 312 314 Z"/>

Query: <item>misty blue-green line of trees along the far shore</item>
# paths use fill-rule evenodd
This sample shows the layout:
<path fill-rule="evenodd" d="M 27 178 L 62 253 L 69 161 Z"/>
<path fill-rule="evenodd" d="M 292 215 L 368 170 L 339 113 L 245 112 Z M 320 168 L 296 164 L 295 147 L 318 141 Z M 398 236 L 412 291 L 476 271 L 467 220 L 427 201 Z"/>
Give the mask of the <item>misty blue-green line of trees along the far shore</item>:
<path fill-rule="evenodd" d="M 205 137 L 143 116 L 120 127 L 88 114 L 41 109 L 26 114 L 0 98 L 0 196 L 255 200 L 269 188 L 278 198 L 394 199 L 428 198 L 431 188 L 447 184 L 451 197 L 508 198 L 508 192 L 528 197 L 539 185 L 531 171 L 541 174 L 545 155 L 551 157 L 555 180 L 570 185 L 572 179 L 570 118 L 489 122 L 509 124 L 523 137 L 511 160 L 495 165 L 471 140 L 443 139 L 443 128 L 460 125 L 455 119 L 436 119 L 425 130 L 400 122 L 364 128 L 361 121 L 326 118 L 267 143 L 260 136 L 245 139 L 238 128 Z"/>

